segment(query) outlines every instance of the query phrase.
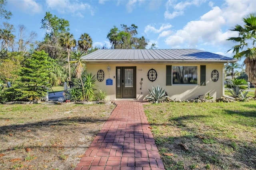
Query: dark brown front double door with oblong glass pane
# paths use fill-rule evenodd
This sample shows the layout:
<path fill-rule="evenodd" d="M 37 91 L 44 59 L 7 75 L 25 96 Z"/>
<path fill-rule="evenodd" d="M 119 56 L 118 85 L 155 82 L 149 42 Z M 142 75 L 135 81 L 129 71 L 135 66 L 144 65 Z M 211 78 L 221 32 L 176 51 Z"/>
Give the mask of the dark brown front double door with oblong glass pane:
<path fill-rule="evenodd" d="M 136 98 L 136 67 L 116 67 L 116 98 Z"/>

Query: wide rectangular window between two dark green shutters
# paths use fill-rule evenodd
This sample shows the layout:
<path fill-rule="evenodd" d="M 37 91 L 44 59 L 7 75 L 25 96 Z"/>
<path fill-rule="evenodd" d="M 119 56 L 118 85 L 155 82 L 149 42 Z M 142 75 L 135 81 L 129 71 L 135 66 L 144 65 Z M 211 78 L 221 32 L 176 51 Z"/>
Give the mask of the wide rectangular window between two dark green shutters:
<path fill-rule="evenodd" d="M 172 66 L 172 84 L 197 84 L 197 66 Z"/>

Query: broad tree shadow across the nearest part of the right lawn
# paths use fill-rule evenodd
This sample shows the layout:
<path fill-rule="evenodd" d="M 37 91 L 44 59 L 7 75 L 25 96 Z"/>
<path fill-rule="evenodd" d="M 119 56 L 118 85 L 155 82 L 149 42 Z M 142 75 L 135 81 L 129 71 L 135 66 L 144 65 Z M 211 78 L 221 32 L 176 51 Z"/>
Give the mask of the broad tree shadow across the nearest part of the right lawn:
<path fill-rule="evenodd" d="M 213 169 L 256 169 L 256 145 L 253 143 L 244 144 L 238 140 L 214 138 L 208 144 L 191 135 L 159 135 L 154 138 L 168 170 L 184 167 L 190 169 L 194 165 L 206 168 L 207 164 Z M 179 145 L 180 142 L 186 144 L 189 150 L 184 150 Z M 165 153 L 172 153 L 174 156 L 166 156 Z"/>

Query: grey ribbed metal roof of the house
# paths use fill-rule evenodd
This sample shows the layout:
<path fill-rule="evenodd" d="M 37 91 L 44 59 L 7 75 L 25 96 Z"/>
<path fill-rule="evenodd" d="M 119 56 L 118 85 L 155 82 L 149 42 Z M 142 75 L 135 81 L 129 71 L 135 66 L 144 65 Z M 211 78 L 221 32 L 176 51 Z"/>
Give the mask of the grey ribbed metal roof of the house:
<path fill-rule="evenodd" d="M 98 49 L 82 57 L 86 62 L 105 63 L 230 63 L 236 59 L 199 49 Z"/>

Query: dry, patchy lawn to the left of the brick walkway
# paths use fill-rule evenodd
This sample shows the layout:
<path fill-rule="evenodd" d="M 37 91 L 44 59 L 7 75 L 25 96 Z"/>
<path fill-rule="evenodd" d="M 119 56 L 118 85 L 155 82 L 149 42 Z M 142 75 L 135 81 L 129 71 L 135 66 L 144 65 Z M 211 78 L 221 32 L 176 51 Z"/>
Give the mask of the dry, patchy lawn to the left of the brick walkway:
<path fill-rule="evenodd" d="M 114 107 L 0 105 L 0 169 L 74 169 Z"/>

